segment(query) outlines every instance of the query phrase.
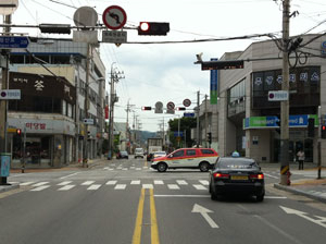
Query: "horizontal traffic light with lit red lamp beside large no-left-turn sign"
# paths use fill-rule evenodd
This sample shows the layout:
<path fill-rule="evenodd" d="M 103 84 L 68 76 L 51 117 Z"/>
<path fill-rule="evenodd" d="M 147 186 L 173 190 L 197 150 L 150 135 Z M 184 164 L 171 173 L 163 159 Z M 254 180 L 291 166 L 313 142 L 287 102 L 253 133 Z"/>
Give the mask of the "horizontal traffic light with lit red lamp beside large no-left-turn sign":
<path fill-rule="evenodd" d="M 138 35 L 140 36 L 166 36 L 170 32 L 170 23 L 165 22 L 140 22 Z"/>

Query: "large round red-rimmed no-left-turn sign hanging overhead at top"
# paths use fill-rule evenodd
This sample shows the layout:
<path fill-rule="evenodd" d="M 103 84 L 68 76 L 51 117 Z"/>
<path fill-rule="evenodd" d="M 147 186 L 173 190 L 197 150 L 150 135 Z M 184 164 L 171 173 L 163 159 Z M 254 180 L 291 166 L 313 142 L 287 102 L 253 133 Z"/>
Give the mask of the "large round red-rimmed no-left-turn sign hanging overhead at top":
<path fill-rule="evenodd" d="M 118 5 L 110 5 L 103 12 L 103 23 L 110 29 L 120 29 L 127 22 L 127 14 Z"/>

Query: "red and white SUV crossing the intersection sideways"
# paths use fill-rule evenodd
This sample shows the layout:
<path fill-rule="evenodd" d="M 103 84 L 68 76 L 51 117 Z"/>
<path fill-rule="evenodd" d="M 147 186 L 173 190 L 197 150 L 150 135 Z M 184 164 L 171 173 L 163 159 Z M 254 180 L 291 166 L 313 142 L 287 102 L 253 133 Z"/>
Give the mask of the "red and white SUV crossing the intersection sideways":
<path fill-rule="evenodd" d="M 151 168 L 159 172 L 167 169 L 200 169 L 206 172 L 217 158 L 218 154 L 212 148 L 181 148 L 165 157 L 152 159 Z"/>

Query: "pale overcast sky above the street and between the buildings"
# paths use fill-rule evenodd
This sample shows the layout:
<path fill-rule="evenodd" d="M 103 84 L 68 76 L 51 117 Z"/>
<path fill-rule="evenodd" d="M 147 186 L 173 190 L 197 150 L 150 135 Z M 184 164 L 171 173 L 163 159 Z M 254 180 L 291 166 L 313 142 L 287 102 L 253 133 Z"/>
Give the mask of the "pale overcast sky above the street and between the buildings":
<path fill-rule="evenodd" d="M 326 32 L 325 0 L 290 2 L 290 12 L 299 12 L 290 20 L 290 35 Z M 171 32 L 167 36 L 138 36 L 137 30 L 128 29 L 128 41 L 195 40 L 266 33 L 281 36 L 279 0 L 20 0 L 18 9 L 13 14 L 13 24 L 74 25 L 74 13 L 84 5 L 95 8 L 100 23 L 103 23 L 103 11 L 110 5 L 120 5 L 125 10 L 127 27 L 136 27 L 141 21 L 170 22 Z M 50 37 L 40 35 L 37 29 L 20 32 Z M 125 110 L 129 100 L 142 130 L 160 130 L 163 118 L 166 129 L 167 121 L 183 115 L 183 112 L 176 111 L 175 115 L 155 114 L 153 110 L 141 111 L 141 107 L 154 107 L 156 101 L 162 101 L 164 107 L 173 101 L 178 107 L 188 98 L 192 102 L 191 109 L 196 106 L 198 90 L 203 100 L 204 95 L 210 94 L 210 73 L 193 64 L 197 53 L 203 52 L 203 60 L 221 58 L 224 52 L 244 50 L 252 41 L 263 39 L 266 38 L 192 44 L 123 44 L 120 47 L 101 44 L 100 52 L 108 77 L 113 62 L 125 74 L 125 78 L 116 85 L 120 100 L 115 107 L 115 121 L 126 121 Z M 133 114 L 129 115 L 129 123 Z"/>

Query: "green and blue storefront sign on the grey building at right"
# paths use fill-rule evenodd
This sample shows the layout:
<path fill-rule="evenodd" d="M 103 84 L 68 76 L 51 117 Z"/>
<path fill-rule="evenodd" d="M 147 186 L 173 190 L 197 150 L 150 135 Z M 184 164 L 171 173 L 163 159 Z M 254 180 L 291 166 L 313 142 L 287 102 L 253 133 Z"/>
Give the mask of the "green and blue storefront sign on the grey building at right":
<path fill-rule="evenodd" d="M 315 119 L 315 126 L 319 125 L 317 114 L 289 115 L 289 127 L 306 127 L 308 119 Z M 250 117 L 243 119 L 243 130 L 279 127 L 277 117 Z"/>

